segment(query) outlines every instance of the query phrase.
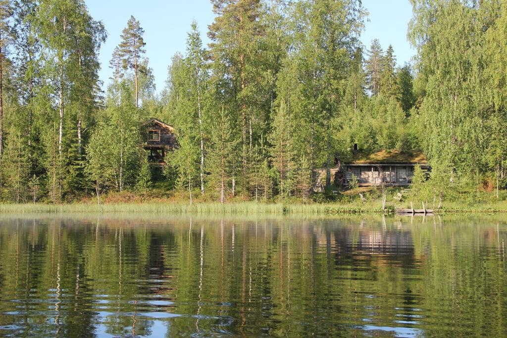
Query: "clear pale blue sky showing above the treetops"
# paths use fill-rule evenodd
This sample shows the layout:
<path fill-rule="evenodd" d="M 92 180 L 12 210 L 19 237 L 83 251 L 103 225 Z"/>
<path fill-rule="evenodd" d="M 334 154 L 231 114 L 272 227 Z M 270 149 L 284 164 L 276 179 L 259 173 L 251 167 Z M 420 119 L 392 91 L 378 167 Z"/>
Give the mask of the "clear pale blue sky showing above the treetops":
<path fill-rule="evenodd" d="M 100 49 L 100 79 L 108 83 L 111 54 L 127 20 L 134 15 L 144 29 L 145 56 L 150 59 L 159 93 L 165 86 L 171 57 L 185 51 L 192 20 L 197 21 L 207 43 L 207 26 L 214 17 L 208 0 L 86 0 L 86 4 L 93 18 L 104 23 L 108 34 Z M 363 0 L 363 6 L 370 13 L 361 35 L 363 44 L 370 46 L 377 38 L 384 49 L 389 44 L 393 46 L 399 64 L 409 62 L 415 53 L 407 42 L 407 24 L 412 16 L 409 0 Z"/>

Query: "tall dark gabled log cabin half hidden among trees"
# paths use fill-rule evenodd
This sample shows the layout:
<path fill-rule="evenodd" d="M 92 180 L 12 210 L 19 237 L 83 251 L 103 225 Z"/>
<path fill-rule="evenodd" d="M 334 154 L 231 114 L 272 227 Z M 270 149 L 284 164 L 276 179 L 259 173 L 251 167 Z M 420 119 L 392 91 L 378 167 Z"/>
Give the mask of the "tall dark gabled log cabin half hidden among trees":
<path fill-rule="evenodd" d="M 143 125 L 143 137 L 146 140 L 144 149 L 148 151 L 148 162 L 158 165 L 165 165 L 165 155 L 178 146 L 174 136 L 174 128 L 168 124 L 151 118 Z"/>

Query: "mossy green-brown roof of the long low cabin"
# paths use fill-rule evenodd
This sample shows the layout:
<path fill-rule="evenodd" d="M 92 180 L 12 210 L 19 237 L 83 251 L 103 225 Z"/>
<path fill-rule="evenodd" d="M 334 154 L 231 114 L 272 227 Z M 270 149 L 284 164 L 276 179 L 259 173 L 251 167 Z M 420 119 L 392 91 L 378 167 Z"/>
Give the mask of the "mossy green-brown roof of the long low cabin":
<path fill-rule="evenodd" d="M 345 164 L 420 164 L 427 165 L 428 160 L 420 151 L 381 150 L 372 153 L 355 152 Z"/>

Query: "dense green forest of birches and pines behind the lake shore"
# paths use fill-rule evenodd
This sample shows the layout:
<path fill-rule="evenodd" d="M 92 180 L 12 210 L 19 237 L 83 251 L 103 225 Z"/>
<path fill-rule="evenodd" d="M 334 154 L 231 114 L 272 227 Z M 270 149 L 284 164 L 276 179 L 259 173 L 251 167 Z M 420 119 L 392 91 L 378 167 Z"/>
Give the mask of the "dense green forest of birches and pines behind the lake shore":
<path fill-rule="evenodd" d="M 212 0 L 210 43 L 192 23 L 158 95 L 134 17 L 102 91 L 107 33 L 84 1 L 0 0 L 0 199 L 161 187 L 221 202 L 306 199 L 315 170 L 354 143 L 421 150 L 432 167 L 415 181 L 421 196 L 501 197 L 507 0 L 411 3 L 417 55 L 397 66 L 393 46 L 360 43 L 359 0 Z M 142 148 L 150 117 L 174 126 L 180 145 L 162 173 Z"/>

